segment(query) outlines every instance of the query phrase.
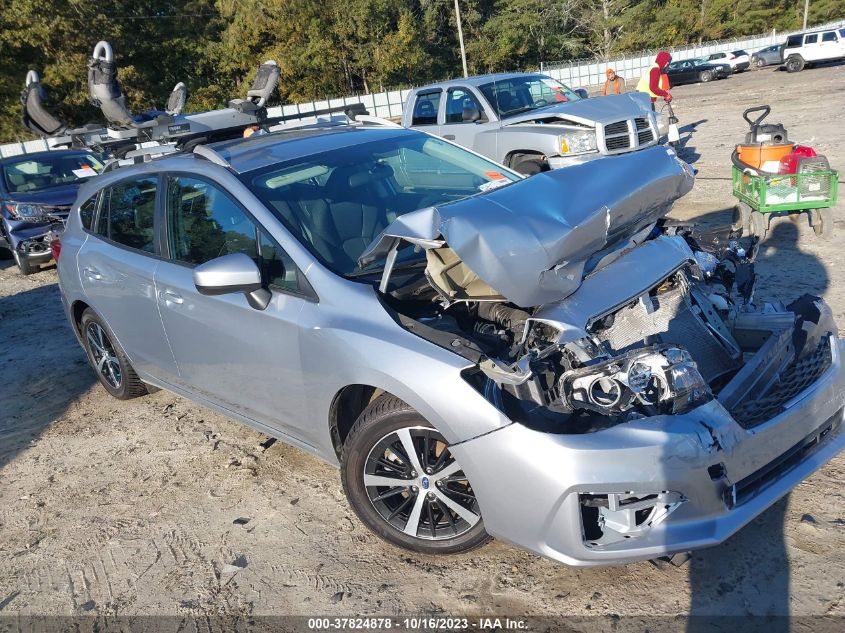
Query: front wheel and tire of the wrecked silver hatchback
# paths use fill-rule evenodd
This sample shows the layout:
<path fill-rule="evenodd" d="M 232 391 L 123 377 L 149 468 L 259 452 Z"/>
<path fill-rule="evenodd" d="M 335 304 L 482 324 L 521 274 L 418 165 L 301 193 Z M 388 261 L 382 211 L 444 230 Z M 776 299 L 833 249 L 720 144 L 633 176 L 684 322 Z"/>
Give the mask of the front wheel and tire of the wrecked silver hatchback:
<path fill-rule="evenodd" d="M 406 441 L 414 447 L 411 459 Z M 425 474 L 416 471 L 415 463 Z M 447 469 L 452 474 L 436 479 Z M 344 442 L 340 473 L 355 514 L 388 543 L 425 554 L 458 554 L 490 540 L 472 486 L 448 452 L 448 444 L 395 396 L 379 396 L 360 415 Z M 365 477 L 400 481 L 400 485 L 368 486 Z M 424 489 L 429 491 L 423 493 Z M 443 497 L 450 507 L 460 500 L 461 512 L 449 510 L 440 501 Z"/>

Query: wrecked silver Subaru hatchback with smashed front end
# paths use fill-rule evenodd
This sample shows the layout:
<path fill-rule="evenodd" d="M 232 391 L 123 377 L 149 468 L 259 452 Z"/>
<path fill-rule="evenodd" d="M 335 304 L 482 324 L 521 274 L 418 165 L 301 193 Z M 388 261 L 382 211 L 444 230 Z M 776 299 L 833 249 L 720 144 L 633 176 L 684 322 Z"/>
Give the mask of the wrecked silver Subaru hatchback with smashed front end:
<path fill-rule="evenodd" d="M 830 309 L 755 304 L 753 239 L 666 220 L 692 184 L 660 146 L 522 179 L 410 130 L 272 133 L 87 183 L 59 279 L 110 394 L 339 464 L 391 543 L 649 559 L 845 446 Z"/>

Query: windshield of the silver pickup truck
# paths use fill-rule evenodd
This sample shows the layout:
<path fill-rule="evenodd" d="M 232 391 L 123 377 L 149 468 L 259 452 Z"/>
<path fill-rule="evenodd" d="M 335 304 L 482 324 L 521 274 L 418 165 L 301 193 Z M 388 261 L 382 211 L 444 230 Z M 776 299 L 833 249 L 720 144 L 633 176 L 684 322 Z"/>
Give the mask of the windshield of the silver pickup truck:
<path fill-rule="evenodd" d="M 480 90 L 502 119 L 555 103 L 581 99 L 570 88 L 545 75 L 497 79 L 484 84 Z"/>

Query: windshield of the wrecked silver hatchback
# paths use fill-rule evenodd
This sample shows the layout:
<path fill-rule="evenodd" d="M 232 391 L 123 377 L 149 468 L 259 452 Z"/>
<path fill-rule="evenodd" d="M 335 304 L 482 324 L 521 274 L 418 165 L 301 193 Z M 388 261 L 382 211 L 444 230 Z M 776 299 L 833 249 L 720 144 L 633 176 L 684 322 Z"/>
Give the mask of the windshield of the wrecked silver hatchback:
<path fill-rule="evenodd" d="M 519 180 L 480 156 L 427 134 L 333 149 L 241 176 L 302 244 L 340 275 L 398 216 Z M 413 248 L 398 264 L 419 261 Z M 373 262 L 367 271 L 380 270 Z"/>

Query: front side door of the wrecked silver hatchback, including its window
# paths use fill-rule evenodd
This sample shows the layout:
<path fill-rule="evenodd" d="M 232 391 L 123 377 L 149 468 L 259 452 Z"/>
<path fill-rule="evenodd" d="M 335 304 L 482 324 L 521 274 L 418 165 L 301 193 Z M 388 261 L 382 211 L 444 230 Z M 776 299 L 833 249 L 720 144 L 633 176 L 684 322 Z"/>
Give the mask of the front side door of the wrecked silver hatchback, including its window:
<path fill-rule="evenodd" d="M 293 262 L 219 185 L 170 176 L 166 193 L 168 259 L 156 271 L 159 308 L 179 368 L 178 385 L 235 413 L 285 432 L 306 416 Z M 241 294 L 201 295 L 193 267 L 246 253 L 273 297 L 265 310 Z"/>

